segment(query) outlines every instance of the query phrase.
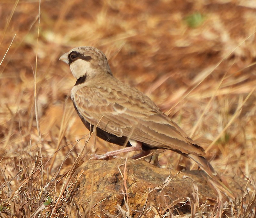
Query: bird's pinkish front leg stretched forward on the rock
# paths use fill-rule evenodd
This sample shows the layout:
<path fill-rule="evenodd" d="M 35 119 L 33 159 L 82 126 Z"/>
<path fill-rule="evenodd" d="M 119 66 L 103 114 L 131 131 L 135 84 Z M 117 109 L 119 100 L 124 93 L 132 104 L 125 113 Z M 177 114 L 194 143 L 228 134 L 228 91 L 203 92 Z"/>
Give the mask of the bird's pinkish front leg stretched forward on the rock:
<path fill-rule="evenodd" d="M 136 144 L 135 143 L 131 143 L 131 145 L 132 145 L 131 147 L 126 147 L 126 148 L 119 149 L 119 150 L 116 150 L 116 151 L 109 151 L 106 154 L 102 154 L 102 155 L 95 154 L 93 159 L 94 160 L 106 160 L 109 157 L 116 156 L 117 154 L 122 154 L 122 153 L 131 152 L 131 151 L 140 151 L 140 150 L 142 150 L 141 142 L 136 142 Z"/>

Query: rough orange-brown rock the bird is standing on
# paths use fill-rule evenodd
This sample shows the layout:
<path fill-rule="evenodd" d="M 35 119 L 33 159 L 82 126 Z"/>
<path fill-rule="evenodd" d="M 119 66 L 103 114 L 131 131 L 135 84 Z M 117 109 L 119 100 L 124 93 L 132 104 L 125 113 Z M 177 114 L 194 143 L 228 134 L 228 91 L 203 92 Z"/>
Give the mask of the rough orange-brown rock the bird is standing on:
<path fill-rule="evenodd" d="M 73 203 L 79 207 L 79 214 L 88 217 L 138 217 L 143 213 L 154 217 L 157 210 L 168 211 L 168 207 L 182 201 L 211 204 L 218 196 L 201 170 L 160 169 L 143 160 L 128 159 L 126 170 L 125 159 L 89 160 L 76 170 L 76 175 L 79 179 Z M 72 207 L 76 213 L 77 208 Z"/>

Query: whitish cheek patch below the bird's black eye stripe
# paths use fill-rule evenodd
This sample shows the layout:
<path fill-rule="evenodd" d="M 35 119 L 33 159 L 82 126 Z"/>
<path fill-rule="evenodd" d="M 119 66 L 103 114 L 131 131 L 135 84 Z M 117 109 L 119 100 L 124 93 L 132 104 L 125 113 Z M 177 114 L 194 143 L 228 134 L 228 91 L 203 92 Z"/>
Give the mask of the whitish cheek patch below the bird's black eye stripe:
<path fill-rule="evenodd" d="M 86 73 L 92 71 L 91 64 L 88 61 L 77 59 L 70 64 L 70 70 L 76 79 L 84 76 Z"/>

